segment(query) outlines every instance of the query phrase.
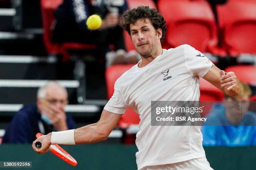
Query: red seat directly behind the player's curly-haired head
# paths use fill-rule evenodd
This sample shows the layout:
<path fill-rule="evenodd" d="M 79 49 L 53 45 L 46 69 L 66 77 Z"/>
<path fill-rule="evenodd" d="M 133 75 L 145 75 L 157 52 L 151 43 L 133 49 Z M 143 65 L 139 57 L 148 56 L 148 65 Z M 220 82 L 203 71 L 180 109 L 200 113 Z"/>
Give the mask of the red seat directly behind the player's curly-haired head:
<path fill-rule="evenodd" d="M 156 9 L 156 4 L 153 0 L 127 0 L 129 9 L 133 9 L 135 7 L 138 7 L 140 5 L 154 7 Z M 124 40 L 125 40 L 125 47 L 127 51 L 135 50 L 135 47 L 133 46 L 133 42 L 131 41 L 131 37 L 128 34 L 128 32 L 124 31 Z"/>

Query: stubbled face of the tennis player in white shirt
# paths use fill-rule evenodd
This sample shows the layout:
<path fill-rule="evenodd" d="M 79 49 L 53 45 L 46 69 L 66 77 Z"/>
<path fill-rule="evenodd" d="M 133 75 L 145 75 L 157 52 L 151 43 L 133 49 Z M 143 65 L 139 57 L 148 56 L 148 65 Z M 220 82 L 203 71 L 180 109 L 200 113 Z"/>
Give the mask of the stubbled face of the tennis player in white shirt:
<path fill-rule="evenodd" d="M 155 30 L 148 19 L 139 19 L 136 23 L 130 24 L 130 30 L 133 45 L 143 57 L 151 56 L 157 45 L 161 45 L 161 29 Z"/>

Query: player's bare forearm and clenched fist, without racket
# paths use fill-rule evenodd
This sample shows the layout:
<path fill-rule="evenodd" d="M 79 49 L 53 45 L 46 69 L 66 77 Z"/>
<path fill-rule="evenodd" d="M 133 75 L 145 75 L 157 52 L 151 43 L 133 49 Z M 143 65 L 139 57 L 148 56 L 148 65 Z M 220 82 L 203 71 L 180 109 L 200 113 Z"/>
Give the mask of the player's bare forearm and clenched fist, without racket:
<path fill-rule="evenodd" d="M 239 94 L 239 87 L 234 72 L 225 72 L 213 65 L 203 78 L 229 96 Z"/>

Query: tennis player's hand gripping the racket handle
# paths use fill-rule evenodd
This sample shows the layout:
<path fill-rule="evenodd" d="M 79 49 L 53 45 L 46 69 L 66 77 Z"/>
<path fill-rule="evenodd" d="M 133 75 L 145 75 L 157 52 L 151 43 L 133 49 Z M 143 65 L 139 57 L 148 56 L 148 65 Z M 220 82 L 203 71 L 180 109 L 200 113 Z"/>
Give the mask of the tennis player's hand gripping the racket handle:
<path fill-rule="evenodd" d="M 35 147 L 35 143 L 38 140 L 41 141 L 41 143 L 42 143 L 42 148 L 40 148 L 40 149 L 37 149 Z M 32 143 L 32 148 L 36 153 L 41 154 L 41 153 L 47 153 L 50 149 L 50 145 L 51 145 L 51 133 L 49 133 L 48 135 L 40 136 L 38 139 L 36 139 Z"/>

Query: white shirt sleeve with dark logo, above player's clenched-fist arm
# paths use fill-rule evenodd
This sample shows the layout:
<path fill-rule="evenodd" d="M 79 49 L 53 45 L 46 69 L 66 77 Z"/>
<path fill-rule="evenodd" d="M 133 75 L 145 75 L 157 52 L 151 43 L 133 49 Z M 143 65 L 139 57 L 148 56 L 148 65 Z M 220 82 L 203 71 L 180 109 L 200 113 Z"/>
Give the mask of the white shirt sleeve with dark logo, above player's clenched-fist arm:
<path fill-rule="evenodd" d="M 204 77 L 214 65 L 204 54 L 190 45 L 184 45 L 185 62 L 192 75 Z"/>

